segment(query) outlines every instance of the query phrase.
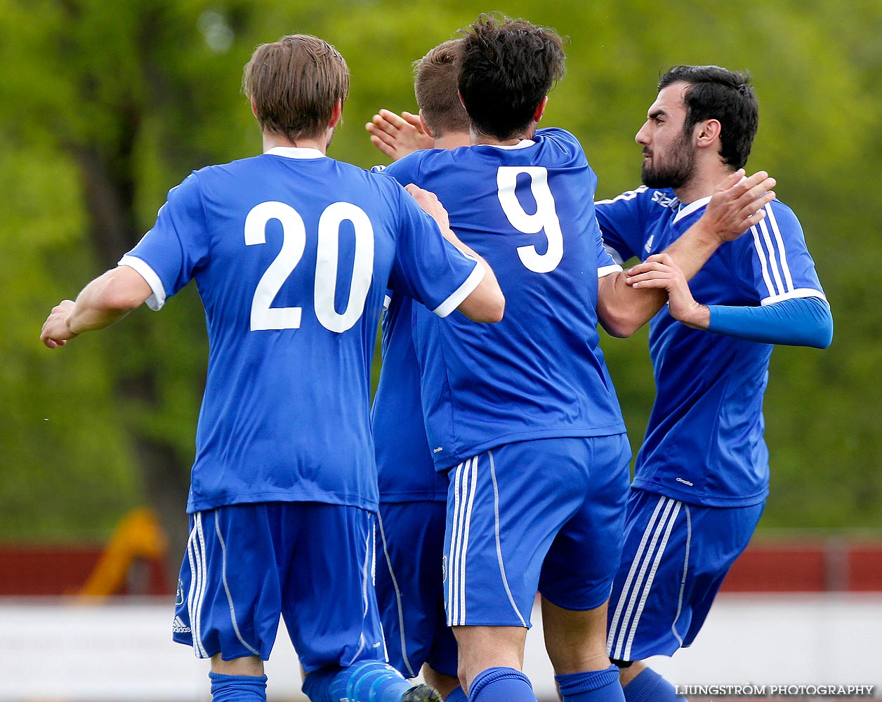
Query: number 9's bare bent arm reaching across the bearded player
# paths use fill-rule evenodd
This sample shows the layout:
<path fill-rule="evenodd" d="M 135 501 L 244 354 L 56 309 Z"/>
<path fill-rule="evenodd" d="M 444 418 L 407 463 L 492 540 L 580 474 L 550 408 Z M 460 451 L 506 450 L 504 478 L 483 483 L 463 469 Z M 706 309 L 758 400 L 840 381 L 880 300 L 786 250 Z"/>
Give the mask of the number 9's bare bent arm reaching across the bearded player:
<path fill-rule="evenodd" d="M 685 280 L 698 273 L 722 243 L 734 241 L 765 218 L 763 208 L 774 199 L 774 185 L 766 171 L 744 177 L 744 170 L 717 185 L 705 213 L 664 251 Z M 624 271 L 598 281 L 597 317 L 610 335 L 620 338 L 645 325 L 668 300 L 664 288 L 634 288 L 627 284 L 628 277 L 629 271 Z"/>

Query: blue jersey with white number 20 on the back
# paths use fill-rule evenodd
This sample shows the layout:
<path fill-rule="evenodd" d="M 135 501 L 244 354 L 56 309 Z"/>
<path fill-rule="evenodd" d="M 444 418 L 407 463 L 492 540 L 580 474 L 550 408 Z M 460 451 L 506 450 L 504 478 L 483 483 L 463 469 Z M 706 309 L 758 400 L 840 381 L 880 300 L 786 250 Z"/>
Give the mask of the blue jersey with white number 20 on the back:
<path fill-rule="evenodd" d="M 188 512 L 377 507 L 370 363 L 387 286 L 439 315 L 483 269 L 391 179 L 277 147 L 191 174 L 120 261 L 158 310 L 192 279 L 209 355 Z"/>

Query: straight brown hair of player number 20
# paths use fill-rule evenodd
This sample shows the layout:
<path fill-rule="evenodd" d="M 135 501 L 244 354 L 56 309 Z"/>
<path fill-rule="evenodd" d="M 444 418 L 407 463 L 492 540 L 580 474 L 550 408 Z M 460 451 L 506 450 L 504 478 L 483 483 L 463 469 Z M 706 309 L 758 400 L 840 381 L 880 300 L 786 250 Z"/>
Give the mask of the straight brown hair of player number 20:
<path fill-rule="evenodd" d="M 349 69 L 327 41 L 290 34 L 254 50 L 242 87 L 260 128 L 295 142 L 325 132 L 337 101 L 348 97 Z"/>

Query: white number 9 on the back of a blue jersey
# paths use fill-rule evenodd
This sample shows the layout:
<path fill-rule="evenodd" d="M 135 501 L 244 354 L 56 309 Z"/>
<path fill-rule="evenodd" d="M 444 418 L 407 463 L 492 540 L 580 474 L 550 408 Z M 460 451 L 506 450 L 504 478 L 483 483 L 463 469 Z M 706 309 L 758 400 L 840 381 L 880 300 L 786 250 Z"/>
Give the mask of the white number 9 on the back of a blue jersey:
<path fill-rule="evenodd" d="M 530 176 L 530 190 L 536 200 L 536 211 L 525 212 L 514 189 L 518 175 Z M 534 273 L 551 273 L 564 258 L 564 235 L 557 219 L 557 209 L 549 188 L 548 170 L 541 166 L 500 166 L 497 171 L 499 204 L 512 227 L 524 234 L 538 234 L 543 229 L 548 239 L 545 253 L 537 253 L 535 246 L 519 246 L 520 262 Z"/>

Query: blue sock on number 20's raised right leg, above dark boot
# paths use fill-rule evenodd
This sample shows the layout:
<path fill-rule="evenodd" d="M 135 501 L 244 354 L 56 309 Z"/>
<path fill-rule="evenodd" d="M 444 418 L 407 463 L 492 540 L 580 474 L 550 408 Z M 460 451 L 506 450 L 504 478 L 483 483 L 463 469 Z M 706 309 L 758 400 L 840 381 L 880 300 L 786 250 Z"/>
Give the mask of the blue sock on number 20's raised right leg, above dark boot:
<path fill-rule="evenodd" d="M 348 668 L 327 667 L 312 671 L 303 679 L 303 693 L 311 702 L 401 702 L 413 687 L 401 674 L 382 661 L 359 661 Z"/>

